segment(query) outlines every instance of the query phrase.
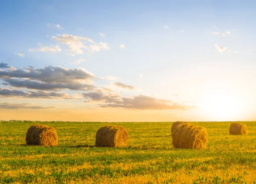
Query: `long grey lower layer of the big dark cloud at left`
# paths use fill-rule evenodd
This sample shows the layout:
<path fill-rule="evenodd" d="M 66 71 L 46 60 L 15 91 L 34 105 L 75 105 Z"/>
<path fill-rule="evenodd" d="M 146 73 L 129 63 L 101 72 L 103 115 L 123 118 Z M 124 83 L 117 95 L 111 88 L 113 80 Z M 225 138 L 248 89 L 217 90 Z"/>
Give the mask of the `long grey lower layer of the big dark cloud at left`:
<path fill-rule="evenodd" d="M 18 80 L 15 78 L 2 78 L 2 80 L 4 81 L 4 85 L 38 90 L 57 91 L 60 89 L 71 89 L 87 91 L 96 88 L 96 86 L 92 84 L 85 84 L 76 81 L 73 83 L 44 83 L 33 80 Z"/>

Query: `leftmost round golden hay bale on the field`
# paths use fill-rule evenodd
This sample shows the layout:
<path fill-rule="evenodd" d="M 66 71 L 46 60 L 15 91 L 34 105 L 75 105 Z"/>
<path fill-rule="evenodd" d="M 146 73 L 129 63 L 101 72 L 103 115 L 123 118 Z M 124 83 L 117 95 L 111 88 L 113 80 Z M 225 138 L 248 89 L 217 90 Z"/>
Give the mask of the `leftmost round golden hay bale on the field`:
<path fill-rule="evenodd" d="M 33 124 L 27 131 L 26 143 L 28 145 L 57 146 L 57 132 L 52 126 Z"/>

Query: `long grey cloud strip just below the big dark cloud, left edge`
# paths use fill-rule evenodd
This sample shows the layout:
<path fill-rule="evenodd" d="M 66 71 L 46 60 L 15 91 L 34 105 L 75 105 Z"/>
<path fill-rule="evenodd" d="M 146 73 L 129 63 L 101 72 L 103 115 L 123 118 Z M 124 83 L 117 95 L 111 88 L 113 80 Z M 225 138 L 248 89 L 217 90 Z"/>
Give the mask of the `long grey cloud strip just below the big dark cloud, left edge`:
<path fill-rule="evenodd" d="M 76 99 L 68 95 L 65 92 L 46 92 L 46 91 L 30 91 L 23 92 L 20 90 L 0 88 L 0 96 L 4 97 L 23 97 L 23 98 L 64 98 L 64 99 Z"/>

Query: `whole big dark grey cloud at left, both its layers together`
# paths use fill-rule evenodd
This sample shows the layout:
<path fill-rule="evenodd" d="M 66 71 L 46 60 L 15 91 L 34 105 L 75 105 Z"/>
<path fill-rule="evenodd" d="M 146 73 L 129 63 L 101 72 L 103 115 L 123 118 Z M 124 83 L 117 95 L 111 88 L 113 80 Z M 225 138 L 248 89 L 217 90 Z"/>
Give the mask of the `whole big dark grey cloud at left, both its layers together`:
<path fill-rule="evenodd" d="M 82 68 L 66 69 L 60 66 L 47 66 L 36 69 L 32 66 L 26 69 L 14 69 L 0 71 L 0 79 L 3 84 L 15 87 L 39 90 L 91 90 L 91 78 L 95 75 Z"/>

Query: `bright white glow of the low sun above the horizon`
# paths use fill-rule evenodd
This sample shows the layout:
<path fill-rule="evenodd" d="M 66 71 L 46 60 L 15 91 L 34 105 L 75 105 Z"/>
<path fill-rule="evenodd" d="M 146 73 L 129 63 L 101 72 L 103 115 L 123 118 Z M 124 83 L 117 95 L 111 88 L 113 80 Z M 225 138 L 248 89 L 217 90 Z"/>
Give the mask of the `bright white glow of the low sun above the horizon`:
<path fill-rule="evenodd" d="M 201 107 L 205 115 L 215 121 L 239 120 L 246 108 L 241 95 L 226 90 L 218 90 L 205 95 Z"/>

